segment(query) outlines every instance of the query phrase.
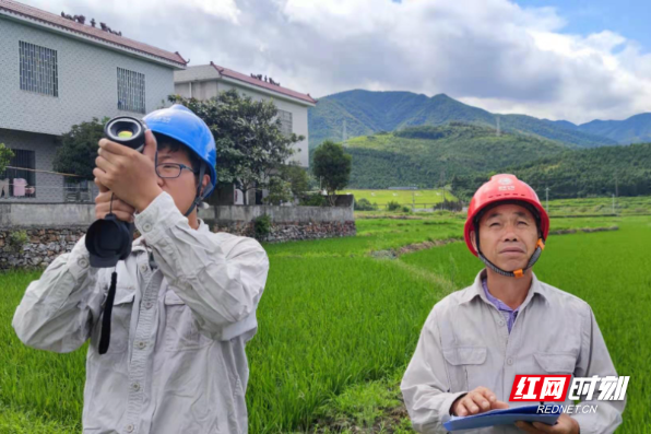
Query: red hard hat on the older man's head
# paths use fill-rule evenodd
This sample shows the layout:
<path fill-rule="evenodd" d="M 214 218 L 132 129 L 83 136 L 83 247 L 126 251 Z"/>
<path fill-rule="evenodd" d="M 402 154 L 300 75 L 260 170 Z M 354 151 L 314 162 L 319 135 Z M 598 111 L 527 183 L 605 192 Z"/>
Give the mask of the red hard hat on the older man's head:
<path fill-rule="evenodd" d="M 470 233 L 475 228 L 474 220 L 477 214 L 493 203 L 513 200 L 526 202 L 535 208 L 540 216 L 540 228 L 543 233 L 543 239 L 547 239 L 547 235 L 549 234 L 549 216 L 533 188 L 529 184 L 518 179 L 516 175 L 494 175 L 488 183 L 480 187 L 467 207 L 467 220 L 465 221 L 463 236 L 465 237 L 467 248 L 470 248 L 470 251 L 474 256 L 477 256 L 477 251 L 471 243 Z"/>

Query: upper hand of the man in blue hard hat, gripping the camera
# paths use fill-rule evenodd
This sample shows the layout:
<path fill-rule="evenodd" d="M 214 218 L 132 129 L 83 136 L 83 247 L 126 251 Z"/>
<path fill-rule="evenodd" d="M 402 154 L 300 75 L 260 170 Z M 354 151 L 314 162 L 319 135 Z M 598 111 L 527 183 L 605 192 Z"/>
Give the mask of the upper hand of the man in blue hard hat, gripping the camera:
<path fill-rule="evenodd" d="M 97 183 L 115 192 L 122 202 L 142 212 L 163 192 L 154 167 L 155 154 L 156 138 L 150 130 L 145 132 L 142 154 L 131 148 L 102 139 L 95 160 L 97 167 L 93 169 L 93 175 Z"/>

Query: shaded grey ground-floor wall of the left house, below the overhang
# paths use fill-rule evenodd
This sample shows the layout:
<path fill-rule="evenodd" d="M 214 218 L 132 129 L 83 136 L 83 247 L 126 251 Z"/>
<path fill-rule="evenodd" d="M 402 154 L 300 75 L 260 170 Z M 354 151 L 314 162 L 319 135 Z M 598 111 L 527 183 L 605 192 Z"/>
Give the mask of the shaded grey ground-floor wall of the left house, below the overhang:
<path fill-rule="evenodd" d="M 35 151 L 35 165 L 39 171 L 51 171 L 55 160 L 55 136 L 40 134 L 26 131 L 8 130 L 0 128 L 0 143 L 4 143 L 10 149 L 22 149 Z M 10 179 L 13 178 L 13 171 L 7 169 Z M 1 176 L 0 176 L 1 177 Z M 4 200 L 20 200 L 29 202 L 62 202 L 63 196 L 63 176 L 37 172 L 35 174 L 36 195 L 34 198 L 10 198 L 2 197 Z M 12 179 L 13 183 L 13 179 Z"/>

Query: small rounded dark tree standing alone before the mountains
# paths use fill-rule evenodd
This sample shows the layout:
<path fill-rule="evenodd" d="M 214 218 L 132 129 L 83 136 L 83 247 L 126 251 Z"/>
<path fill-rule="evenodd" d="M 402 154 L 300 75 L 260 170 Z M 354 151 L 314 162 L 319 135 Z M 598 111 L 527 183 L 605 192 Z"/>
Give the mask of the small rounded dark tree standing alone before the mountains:
<path fill-rule="evenodd" d="M 324 141 L 315 150 L 312 173 L 317 179 L 322 179 L 331 207 L 334 207 L 336 190 L 343 189 L 351 179 L 352 161 L 353 157 L 344 152 L 344 146 L 341 143 L 330 140 Z"/>

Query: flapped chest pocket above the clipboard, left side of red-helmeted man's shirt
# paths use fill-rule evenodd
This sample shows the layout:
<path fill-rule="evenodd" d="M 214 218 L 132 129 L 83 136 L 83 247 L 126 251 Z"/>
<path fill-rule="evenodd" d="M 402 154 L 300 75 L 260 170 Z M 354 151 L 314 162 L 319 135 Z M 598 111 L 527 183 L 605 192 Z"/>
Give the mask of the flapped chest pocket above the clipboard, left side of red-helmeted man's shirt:
<path fill-rule="evenodd" d="M 443 349 L 448 363 L 450 391 L 470 391 L 483 386 L 483 371 L 486 363 L 486 347 L 453 347 Z"/>

